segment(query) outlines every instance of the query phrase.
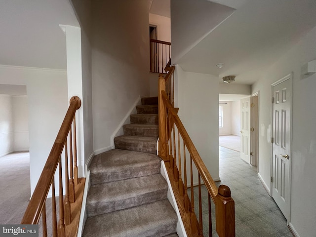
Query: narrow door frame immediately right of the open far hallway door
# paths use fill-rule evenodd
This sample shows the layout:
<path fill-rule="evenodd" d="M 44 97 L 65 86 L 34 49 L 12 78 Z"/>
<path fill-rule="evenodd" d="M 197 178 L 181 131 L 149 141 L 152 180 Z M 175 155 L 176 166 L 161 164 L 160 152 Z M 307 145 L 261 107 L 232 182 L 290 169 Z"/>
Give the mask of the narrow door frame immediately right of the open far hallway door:
<path fill-rule="evenodd" d="M 251 152 L 254 151 L 253 147 L 255 146 L 255 153 L 254 156 L 256 158 L 256 164 L 257 164 L 257 172 L 259 171 L 259 91 L 253 93 L 251 95 L 251 104 L 253 103 L 252 99 L 253 97 L 257 97 L 257 102 L 254 105 L 255 111 L 253 111 L 253 107 L 250 108 L 250 124 L 251 127 L 254 128 L 255 134 L 253 132 L 250 132 L 250 139 L 251 139 Z M 254 113 L 257 116 L 257 119 L 254 118 Z"/>

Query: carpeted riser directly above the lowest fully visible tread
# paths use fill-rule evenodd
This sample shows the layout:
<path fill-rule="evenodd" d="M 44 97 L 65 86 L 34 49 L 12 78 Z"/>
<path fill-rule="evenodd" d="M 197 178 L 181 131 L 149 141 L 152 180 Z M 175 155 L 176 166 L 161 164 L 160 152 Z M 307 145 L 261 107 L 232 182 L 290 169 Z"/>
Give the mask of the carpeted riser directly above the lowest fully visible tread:
<path fill-rule="evenodd" d="M 108 202 L 98 202 L 87 205 L 88 217 L 118 211 L 134 206 L 144 205 L 150 202 L 163 200 L 167 197 L 167 188 L 156 192 L 146 193 L 133 198 L 115 200 Z"/>

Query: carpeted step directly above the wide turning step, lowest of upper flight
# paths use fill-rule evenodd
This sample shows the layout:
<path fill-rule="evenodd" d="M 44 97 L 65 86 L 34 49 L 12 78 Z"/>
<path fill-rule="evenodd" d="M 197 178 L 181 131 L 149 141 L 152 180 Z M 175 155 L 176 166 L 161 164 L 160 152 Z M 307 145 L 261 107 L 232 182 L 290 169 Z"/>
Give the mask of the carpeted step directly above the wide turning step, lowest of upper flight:
<path fill-rule="evenodd" d="M 157 154 L 156 137 L 118 136 L 114 138 L 116 149 Z"/>

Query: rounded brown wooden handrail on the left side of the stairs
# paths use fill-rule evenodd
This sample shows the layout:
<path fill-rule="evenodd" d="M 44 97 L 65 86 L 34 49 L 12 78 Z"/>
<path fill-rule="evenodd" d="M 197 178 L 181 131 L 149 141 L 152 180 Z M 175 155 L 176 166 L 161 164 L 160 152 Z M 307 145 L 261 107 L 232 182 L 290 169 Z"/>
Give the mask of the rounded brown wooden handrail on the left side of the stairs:
<path fill-rule="evenodd" d="M 25 211 L 21 224 L 37 224 L 40 220 L 40 214 L 44 207 L 50 185 L 54 182 L 54 174 L 60 163 L 61 154 L 76 111 L 80 108 L 81 101 L 78 96 L 70 99 L 70 105 L 63 123 L 59 129 L 53 147 L 40 174 L 39 181 L 31 197 L 30 203 Z"/>

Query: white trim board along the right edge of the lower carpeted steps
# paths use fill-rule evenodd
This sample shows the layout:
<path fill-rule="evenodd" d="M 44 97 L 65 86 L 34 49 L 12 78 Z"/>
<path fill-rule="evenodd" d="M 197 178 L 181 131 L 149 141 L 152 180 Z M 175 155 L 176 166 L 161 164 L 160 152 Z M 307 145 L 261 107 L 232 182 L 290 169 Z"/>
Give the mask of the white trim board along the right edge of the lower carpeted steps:
<path fill-rule="evenodd" d="M 181 215 L 180 215 L 180 212 L 179 212 L 178 204 L 177 204 L 176 198 L 174 197 L 173 190 L 172 190 L 172 187 L 171 187 L 171 183 L 170 183 L 169 177 L 167 175 L 168 173 L 167 173 L 167 170 L 166 170 L 166 167 L 164 165 L 164 161 L 163 160 L 161 160 L 160 173 L 163 176 L 163 178 L 167 181 L 167 184 L 168 184 L 168 200 L 170 201 L 173 209 L 175 210 L 175 212 L 177 213 L 177 216 L 178 216 L 177 229 L 176 229 L 177 230 L 177 234 L 178 234 L 179 237 L 187 237 L 187 233 L 186 233 L 186 231 L 184 229 L 182 218 L 181 218 Z"/>

